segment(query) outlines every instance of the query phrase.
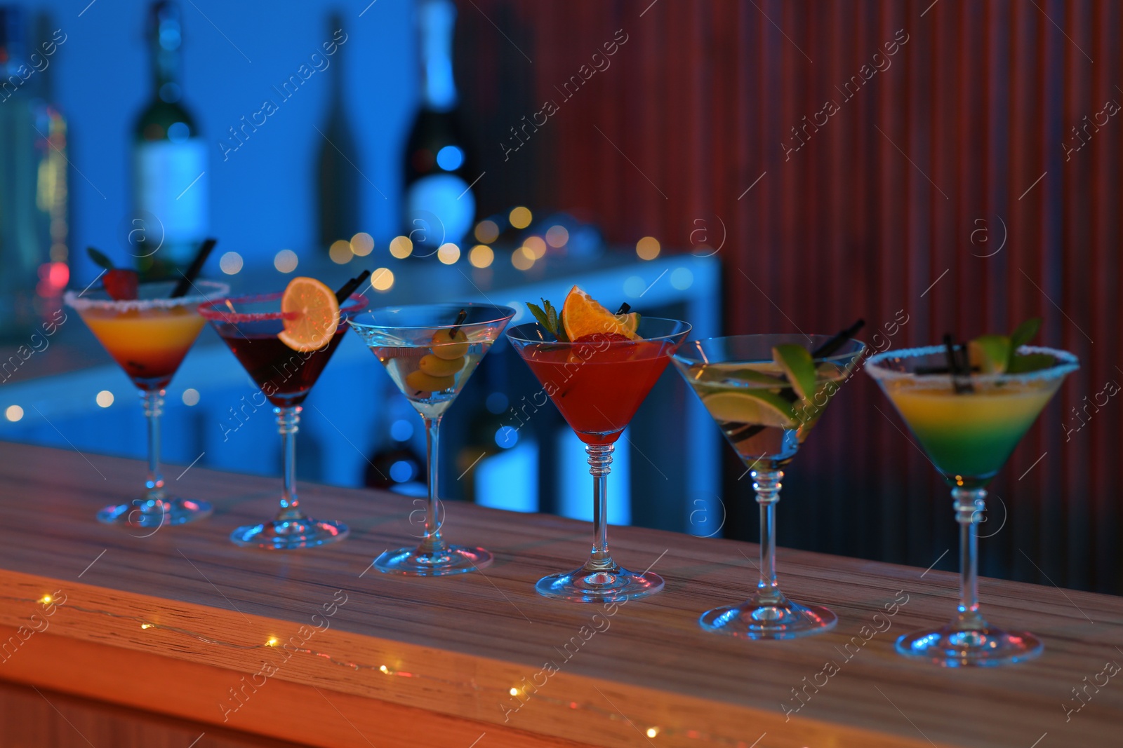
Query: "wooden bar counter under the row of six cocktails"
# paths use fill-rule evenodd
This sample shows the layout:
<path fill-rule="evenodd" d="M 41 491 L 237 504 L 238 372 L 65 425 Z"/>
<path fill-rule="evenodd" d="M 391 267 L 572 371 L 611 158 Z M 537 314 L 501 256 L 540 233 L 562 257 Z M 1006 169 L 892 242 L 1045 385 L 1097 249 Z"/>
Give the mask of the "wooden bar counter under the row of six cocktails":
<path fill-rule="evenodd" d="M 447 537 L 487 547 L 495 563 L 404 579 L 371 561 L 418 534 L 410 498 L 305 483 L 309 514 L 346 521 L 350 537 L 268 553 L 227 537 L 271 516 L 280 479 L 167 467 L 170 487 L 213 502 L 212 517 L 155 533 L 97 523 L 143 474 L 135 461 L 0 444 L 0 744 L 124 745 L 129 720 L 202 732 L 195 748 L 1123 740 L 1120 598 L 983 580 L 987 617 L 1032 630 L 1046 653 L 943 669 L 893 643 L 950 617 L 958 580 L 946 572 L 780 550 L 785 591 L 831 607 L 838 628 L 739 641 L 696 621 L 749 594 L 751 544 L 613 527 L 613 555 L 652 566 L 665 590 L 565 604 L 533 583 L 587 554 L 584 523 L 448 505 Z M 98 732 L 102 722 L 115 727 Z M 4 741 L 16 732 L 22 742 Z"/>

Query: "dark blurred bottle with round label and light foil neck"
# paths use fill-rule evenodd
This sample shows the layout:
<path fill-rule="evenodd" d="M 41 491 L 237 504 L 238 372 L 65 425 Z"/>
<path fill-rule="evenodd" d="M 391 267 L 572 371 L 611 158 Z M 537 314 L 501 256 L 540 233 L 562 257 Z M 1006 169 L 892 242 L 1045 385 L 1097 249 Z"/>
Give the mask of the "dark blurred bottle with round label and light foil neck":
<path fill-rule="evenodd" d="M 421 110 L 405 146 L 404 231 L 414 255 L 433 253 L 440 244 L 463 243 L 476 216 L 469 183 L 478 177 L 457 119 L 453 80 L 451 0 L 418 0 L 421 49 Z M 423 249 L 420 249 L 420 248 Z"/>

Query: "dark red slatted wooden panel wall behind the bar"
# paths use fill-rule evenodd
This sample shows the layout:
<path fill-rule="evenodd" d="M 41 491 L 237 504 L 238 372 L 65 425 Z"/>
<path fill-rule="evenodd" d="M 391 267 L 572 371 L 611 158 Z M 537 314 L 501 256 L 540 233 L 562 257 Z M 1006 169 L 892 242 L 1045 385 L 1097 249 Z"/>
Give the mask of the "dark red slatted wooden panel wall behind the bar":
<path fill-rule="evenodd" d="M 729 332 L 862 316 L 869 340 L 903 310 L 905 347 L 1043 316 L 1083 368 L 993 486 L 984 571 L 1120 591 L 1123 398 L 1065 426 L 1123 382 L 1121 28 L 1093 0 L 463 0 L 458 55 L 484 207 L 573 209 L 682 251 L 723 224 Z M 782 542 L 932 563 L 955 526 L 931 465 L 864 375 L 832 410 L 785 481 Z M 746 490 L 725 500 L 748 517 Z"/>

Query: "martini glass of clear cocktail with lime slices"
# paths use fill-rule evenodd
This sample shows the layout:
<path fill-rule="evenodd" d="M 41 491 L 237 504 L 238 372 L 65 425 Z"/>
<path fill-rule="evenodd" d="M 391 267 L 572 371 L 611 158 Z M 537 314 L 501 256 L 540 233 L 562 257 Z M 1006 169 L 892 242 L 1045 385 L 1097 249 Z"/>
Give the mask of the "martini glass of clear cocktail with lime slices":
<path fill-rule="evenodd" d="M 773 347 L 788 343 L 818 349 L 829 335 L 734 335 L 692 341 L 675 354 L 679 373 L 718 422 L 737 456 L 752 473 L 760 505 L 760 580 L 739 606 L 714 608 L 699 624 L 707 631 L 743 639 L 791 639 L 834 628 L 828 608 L 787 599 L 776 581 L 776 502 L 780 479 L 828 403 L 853 372 L 866 349 L 850 340 L 827 358 L 815 358 L 815 391 L 796 395 Z"/>

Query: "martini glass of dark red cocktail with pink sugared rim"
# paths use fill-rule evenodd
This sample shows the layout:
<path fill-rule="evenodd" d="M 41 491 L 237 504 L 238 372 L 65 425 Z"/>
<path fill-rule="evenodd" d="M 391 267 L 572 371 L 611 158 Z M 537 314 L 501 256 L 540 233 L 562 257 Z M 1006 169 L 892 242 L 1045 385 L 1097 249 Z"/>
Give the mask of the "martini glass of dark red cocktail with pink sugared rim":
<path fill-rule="evenodd" d="M 241 296 L 210 302 L 199 307 L 222 342 L 273 404 L 284 454 L 284 487 L 276 517 L 246 525 L 230 534 L 240 546 L 290 551 L 336 543 L 347 537 L 347 526 L 334 519 L 312 519 L 300 508 L 296 496 L 296 432 L 301 403 L 308 397 L 323 367 L 347 331 L 347 317 L 366 306 L 366 297 L 353 294 L 339 305 L 339 326 L 323 348 L 295 351 L 277 333 L 284 330 L 283 293 Z"/>

